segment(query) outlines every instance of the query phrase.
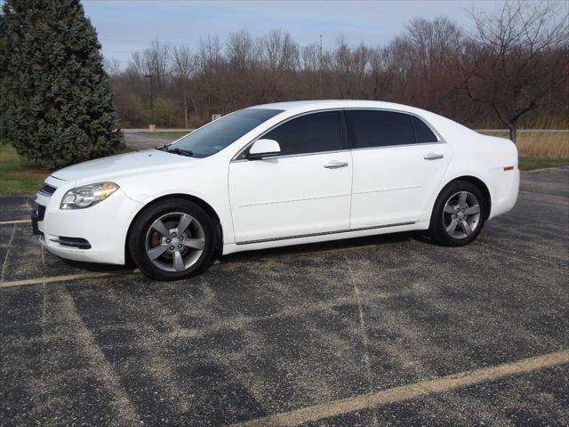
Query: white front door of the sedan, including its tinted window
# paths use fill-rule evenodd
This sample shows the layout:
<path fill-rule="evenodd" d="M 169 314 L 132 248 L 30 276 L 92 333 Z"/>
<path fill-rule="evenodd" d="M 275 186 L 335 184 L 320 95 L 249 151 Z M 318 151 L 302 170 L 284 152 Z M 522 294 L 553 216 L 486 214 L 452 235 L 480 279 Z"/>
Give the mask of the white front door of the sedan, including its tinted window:
<path fill-rule="evenodd" d="M 236 243 L 349 230 L 352 160 L 340 111 L 295 117 L 264 139 L 281 153 L 229 165 Z"/>

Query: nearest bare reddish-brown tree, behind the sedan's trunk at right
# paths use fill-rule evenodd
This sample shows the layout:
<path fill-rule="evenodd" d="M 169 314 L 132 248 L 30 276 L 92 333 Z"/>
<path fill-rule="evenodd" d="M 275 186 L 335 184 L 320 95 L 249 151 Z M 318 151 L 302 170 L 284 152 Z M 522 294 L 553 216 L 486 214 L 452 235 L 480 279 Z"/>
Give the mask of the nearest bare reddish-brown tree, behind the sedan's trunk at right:
<path fill-rule="evenodd" d="M 516 141 L 520 117 L 548 105 L 569 83 L 569 20 L 555 3 L 507 2 L 494 16 L 473 12 L 476 35 L 464 58 L 464 87 L 489 105 Z"/>

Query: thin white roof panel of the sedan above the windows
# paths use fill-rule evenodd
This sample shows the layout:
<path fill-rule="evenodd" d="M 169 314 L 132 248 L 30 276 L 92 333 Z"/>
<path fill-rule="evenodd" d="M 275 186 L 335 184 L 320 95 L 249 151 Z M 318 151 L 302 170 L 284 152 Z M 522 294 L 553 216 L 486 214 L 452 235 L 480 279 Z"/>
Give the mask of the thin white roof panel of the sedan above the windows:
<path fill-rule="evenodd" d="M 271 104 L 255 105 L 252 109 L 280 109 L 283 111 L 305 112 L 316 109 L 395 109 L 409 113 L 425 112 L 408 105 L 396 104 L 386 101 L 358 101 L 358 100 L 314 100 L 314 101 L 287 101 Z"/>

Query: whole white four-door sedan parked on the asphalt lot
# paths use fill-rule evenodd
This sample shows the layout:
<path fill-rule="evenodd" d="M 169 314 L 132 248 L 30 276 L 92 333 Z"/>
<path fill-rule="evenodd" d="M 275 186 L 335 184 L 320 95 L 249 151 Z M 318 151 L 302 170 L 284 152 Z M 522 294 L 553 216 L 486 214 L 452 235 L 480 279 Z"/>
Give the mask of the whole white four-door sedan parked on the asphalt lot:
<path fill-rule="evenodd" d="M 33 226 L 52 254 L 188 278 L 213 254 L 408 230 L 445 246 L 508 212 L 517 149 L 422 109 L 297 101 L 241 109 L 158 149 L 47 178 Z"/>

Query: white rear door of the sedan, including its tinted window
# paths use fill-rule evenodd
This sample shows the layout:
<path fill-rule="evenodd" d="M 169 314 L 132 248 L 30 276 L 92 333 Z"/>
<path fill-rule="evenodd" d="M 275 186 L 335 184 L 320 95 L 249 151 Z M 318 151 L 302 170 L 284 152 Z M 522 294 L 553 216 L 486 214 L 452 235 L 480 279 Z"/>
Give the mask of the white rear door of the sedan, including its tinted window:
<path fill-rule="evenodd" d="M 346 110 L 354 162 L 350 228 L 417 222 L 451 151 L 420 117 Z"/>

